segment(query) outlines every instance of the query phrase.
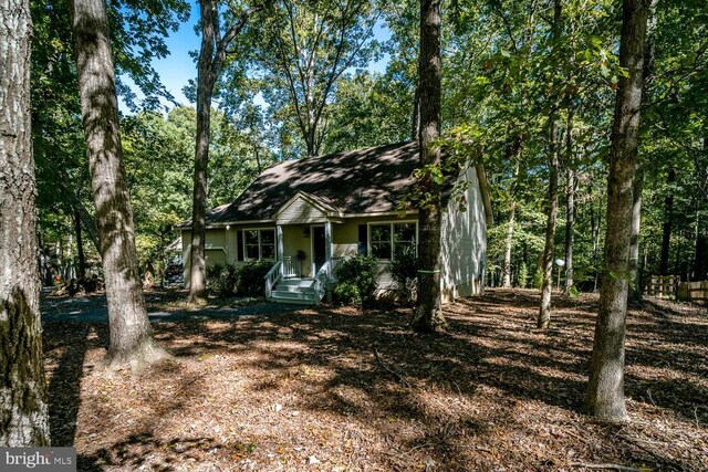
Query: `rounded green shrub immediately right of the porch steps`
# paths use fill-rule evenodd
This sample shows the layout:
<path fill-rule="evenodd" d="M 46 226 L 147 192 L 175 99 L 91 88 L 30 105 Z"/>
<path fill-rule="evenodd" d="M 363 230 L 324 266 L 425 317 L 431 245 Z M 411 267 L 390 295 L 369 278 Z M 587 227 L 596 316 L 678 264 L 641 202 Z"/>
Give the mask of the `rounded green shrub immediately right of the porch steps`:
<path fill-rule="evenodd" d="M 378 263 L 372 255 L 357 254 L 336 268 L 337 286 L 334 296 L 340 303 L 368 305 L 376 291 Z"/>

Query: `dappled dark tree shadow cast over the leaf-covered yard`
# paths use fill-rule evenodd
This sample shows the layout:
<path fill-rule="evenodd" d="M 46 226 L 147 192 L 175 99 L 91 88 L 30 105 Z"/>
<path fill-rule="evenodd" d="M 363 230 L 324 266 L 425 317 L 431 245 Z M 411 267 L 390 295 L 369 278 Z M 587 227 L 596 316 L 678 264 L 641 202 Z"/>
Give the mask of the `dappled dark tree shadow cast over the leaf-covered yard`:
<path fill-rule="evenodd" d="M 156 335 L 178 358 L 226 356 L 235 359 L 233 369 L 260 373 L 246 396 L 287 388 L 298 392 L 295 406 L 303 411 L 377 430 L 391 451 L 377 460 L 391 470 L 412 470 L 420 461 L 425 470 L 494 470 L 503 463 L 521 468 L 511 470 L 558 470 L 572 463 L 559 455 L 571 447 L 592 460 L 657 470 L 695 468 L 691 458 L 669 457 L 670 448 L 647 449 L 623 426 L 597 424 L 577 413 L 596 298 L 556 300 L 549 333 L 533 329 L 537 306 L 538 296 L 530 291 L 490 291 L 448 305 L 449 329 L 439 335 L 407 331 L 405 310 L 357 313 L 332 306 L 241 316 L 217 326 L 204 319 L 163 323 L 156 325 Z M 680 313 L 658 305 L 632 312 L 627 363 L 636 368 L 626 379 L 627 397 L 637 401 L 632 409 L 644 408 L 650 388 L 652 408 L 690 421 L 708 420 L 708 391 L 690 380 L 705 374 L 705 321 L 683 321 Z M 81 325 L 70 333 L 62 326 L 50 324 L 46 329 L 50 356 L 63 353 L 50 384 L 52 437 L 70 445 L 81 407 L 84 353 L 105 342 L 105 327 Z M 52 344 L 62 329 L 66 338 Z M 93 338 L 92 329 L 97 329 Z M 686 349 L 694 345 L 695 352 Z M 675 377 L 647 377 L 647 367 L 668 367 Z M 168 374 L 179 378 L 181 391 L 189 395 L 139 418 L 142 427 L 133 428 L 138 432 L 127 439 L 80 454 L 82 470 L 135 469 L 145 465 L 146 457 L 162 454 L 158 465 L 150 466 L 168 471 L 176 470 L 177 457 L 181 461 L 200 451 L 192 458 L 199 461 L 205 450 L 233 449 L 218 436 L 158 437 L 150 426 L 156 418 L 209 389 L 202 378 L 181 378 L 179 368 Z M 548 442 L 543 438 L 552 438 L 553 428 L 570 434 L 556 439 L 558 451 L 527 444 Z M 494 445 L 502 437 L 504 442 Z M 583 444 L 581 437 L 590 440 Z M 597 450 L 596 443 L 604 449 Z"/>

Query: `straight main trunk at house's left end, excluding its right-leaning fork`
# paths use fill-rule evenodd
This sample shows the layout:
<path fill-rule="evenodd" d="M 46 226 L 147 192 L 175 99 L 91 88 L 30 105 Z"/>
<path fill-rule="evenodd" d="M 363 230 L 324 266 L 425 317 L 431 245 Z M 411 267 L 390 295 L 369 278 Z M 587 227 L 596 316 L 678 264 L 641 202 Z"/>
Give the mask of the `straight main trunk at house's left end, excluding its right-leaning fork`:
<path fill-rule="evenodd" d="M 215 15 L 214 0 L 201 0 L 201 49 L 197 65 L 197 141 L 195 148 L 195 179 L 191 209 L 191 253 L 189 269 L 189 300 L 207 296 L 207 167 L 211 128 L 211 97 L 214 94 Z"/>

